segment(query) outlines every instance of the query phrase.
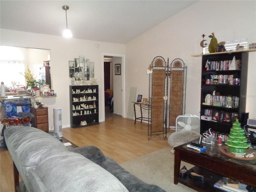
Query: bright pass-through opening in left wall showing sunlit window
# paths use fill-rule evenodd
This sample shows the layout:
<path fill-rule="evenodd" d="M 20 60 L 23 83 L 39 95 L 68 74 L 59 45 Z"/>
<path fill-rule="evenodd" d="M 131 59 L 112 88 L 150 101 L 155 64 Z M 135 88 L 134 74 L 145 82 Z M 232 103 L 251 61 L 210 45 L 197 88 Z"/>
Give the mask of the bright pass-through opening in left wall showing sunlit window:
<path fill-rule="evenodd" d="M 50 50 L 0 46 L 0 81 L 10 90 L 24 90 L 24 72 L 29 69 L 36 80 L 44 80 L 50 88 Z M 11 69 L 11 70 L 10 70 Z"/>

